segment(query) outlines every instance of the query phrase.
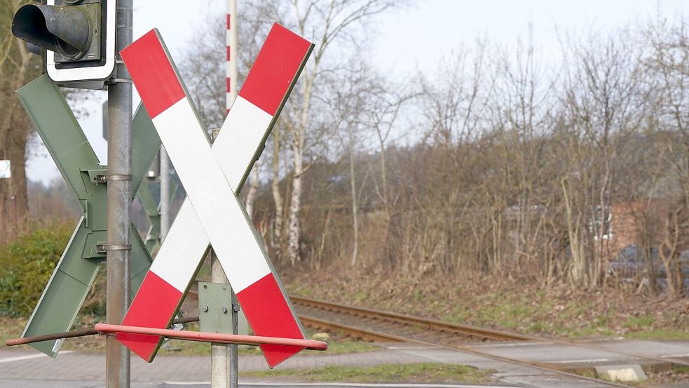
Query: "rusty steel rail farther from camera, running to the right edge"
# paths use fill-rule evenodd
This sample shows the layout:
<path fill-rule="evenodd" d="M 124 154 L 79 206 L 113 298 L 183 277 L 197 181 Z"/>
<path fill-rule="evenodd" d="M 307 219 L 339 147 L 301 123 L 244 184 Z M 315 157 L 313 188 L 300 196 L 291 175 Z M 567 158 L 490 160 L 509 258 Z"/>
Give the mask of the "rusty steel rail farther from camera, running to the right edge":
<path fill-rule="evenodd" d="M 654 361 L 655 363 L 671 363 L 671 364 L 676 364 L 680 366 L 689 366 L 689 362 L 687 361 L 681 361 L 678 359 L 660 359 L 657 357 L 653 356 L 640 356 L 639 354 L 633 354 L 629 352 L 622 352 L 620 350 L 615 350 L 615 349 L 608 349 L 606 347 L 598 346 L 596 344 L 583 344 L 580 342 L 574 342 L 571 340 L 563 340 L 560 338 L 543 338 L 543 337 L 536 337 L 534 335 L 524 335 L 524 334 L 518 334 L 518 333 L 510 333 L 507 331 L 503 330 L 493 330 L 489 328 L 479 328 L 477 326 L 470 326 L 470 325 L 463 325 L 459 323 L 449 323 L 449 322 L 443 322 L 443 321 L 438 321 L 436 319 L 426 319 L 418 316 L 410 316 L 406 314 L 398 314 L 394 312 L 385 312 L 385 311 L 379 311 L 376 309 L 369 309 L 366 307 L 355 307 L 355 306 L 348 306 L 348 305 L 341 305 L 339 303 L 332 303 L 332 302 L 325 302 L 322 300 L 315 300 L 315 299 L 310 299 L 306 297 L 295 297 L 295 296 L 290 296 L 293 302 L 296 302 L 297 304 L 302 304 L 302 305 L 308 305 L 311 307 L 315 308 L 320 308 L 320 309 L 328 309 L 329 311 L 333 311 L 333 309 L 341 309 L 341 311 L 346 312 L 346 314 L 355 314 L 355 315 L 360 315 L 357 314 L 358 312 L 362 312 L 364 314 L 370 314 L 369 316 L 371 317 L 376 317 L 376 316 L 383 316 L 383 317 L 390 317 L 390 319 L 394 320 L 399 320 L 399 321 L 404 321 L 407 323 L 414 323 L 416 325 L 425 325 L 430 328 L 439 328 L 440 330 L 453 330 L 456 331 L 456 333 L 466 333 L 469 335 L 474 335 L 477 337 L 485 337 L 489 339 L 496 339 L 496 340 L 524 340 L 524 341 L 531 341 L 531 342 L 550 342 L 554 344 L 561 344 L 561 345 L 566 345 L 566 346 L 573 346 L 573 347 L 580 347 L 582 349 L 594 349 L 594 350 L 599 350 L 601 352 L 608 352 L 611 354 L 619 354 L 620 356 L 627 356 L 627 357 L 632 357 L 634 359 L 640 359 L 644 361 Z M 308 319 L 308 317 L 307 317 Z M 306 323 L 308 324 L 308 323 Z"/>

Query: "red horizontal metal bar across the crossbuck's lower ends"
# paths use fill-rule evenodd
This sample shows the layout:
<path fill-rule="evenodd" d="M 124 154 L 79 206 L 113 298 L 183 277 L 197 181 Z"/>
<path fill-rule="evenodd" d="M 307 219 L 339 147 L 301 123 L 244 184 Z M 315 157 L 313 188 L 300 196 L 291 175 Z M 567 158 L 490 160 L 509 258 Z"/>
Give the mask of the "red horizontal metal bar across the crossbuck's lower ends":
<path fill-rule="evenodd" d="M 311 350 L 327 350 L 328 344 L 316 340 L 299 340 L 296 338 L 281 337 L 260 337 L 258 335 L 222 334 L 205 333 L 202 331 L 170 330 L 159 328 L 143 328 L 140 326 L 110 325 L 108 323 L 97 323 L 95 329 L 101 333 L 131 333 L 159 335 L 161 337 L 177 338 L 179 340 L 191 340 L 201 342 L 215 342 L 221 344 L 243 344 L 243 345 L 287 345 L 304 347 Z"/>

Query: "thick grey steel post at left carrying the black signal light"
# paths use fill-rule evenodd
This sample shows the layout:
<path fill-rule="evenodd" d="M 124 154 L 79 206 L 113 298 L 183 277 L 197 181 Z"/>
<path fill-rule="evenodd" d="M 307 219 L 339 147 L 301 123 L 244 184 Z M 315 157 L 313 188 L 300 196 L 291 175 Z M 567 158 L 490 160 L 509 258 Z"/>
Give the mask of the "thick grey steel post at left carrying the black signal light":
<path fill-rule="evenodd" d="M 108 86 L 108 323 L 119 324 L 131 300 L 129 229 L 132 224 L 132 83 L 119 52 L 132 43 L 132 0 L 118 0 L 116 11 L 116 58 L 118 63 Z M 105 350 L 107 388 L 130 387 L 129 349 L 109 335 Z"/>

